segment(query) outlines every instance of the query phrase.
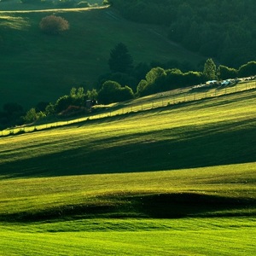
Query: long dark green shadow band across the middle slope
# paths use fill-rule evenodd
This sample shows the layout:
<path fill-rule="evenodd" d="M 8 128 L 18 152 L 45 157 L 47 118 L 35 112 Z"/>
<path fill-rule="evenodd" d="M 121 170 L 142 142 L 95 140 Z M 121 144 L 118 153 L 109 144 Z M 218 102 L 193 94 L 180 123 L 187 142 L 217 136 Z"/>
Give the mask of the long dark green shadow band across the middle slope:
<path fill-rule="evenodd" d="M 0 175 L 52 177 L 255 162 L 255 122 L 256 119 L 250 119 L 109 137 L 92 141 L 82 148 L 0 164 Z M 94 145 L 102 146 L 94 148 Z"/>

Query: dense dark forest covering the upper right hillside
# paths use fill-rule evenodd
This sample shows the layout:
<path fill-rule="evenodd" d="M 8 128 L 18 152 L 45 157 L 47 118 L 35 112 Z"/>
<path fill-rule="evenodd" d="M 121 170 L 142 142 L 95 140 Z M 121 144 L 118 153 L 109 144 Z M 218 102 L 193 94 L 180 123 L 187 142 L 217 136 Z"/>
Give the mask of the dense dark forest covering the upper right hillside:
<path fill-rule="evenodd" d="M 126 19 L 165 26 L 183 47 L 230 67 L 255 60 L 254 0 L 109 0 Z"/>

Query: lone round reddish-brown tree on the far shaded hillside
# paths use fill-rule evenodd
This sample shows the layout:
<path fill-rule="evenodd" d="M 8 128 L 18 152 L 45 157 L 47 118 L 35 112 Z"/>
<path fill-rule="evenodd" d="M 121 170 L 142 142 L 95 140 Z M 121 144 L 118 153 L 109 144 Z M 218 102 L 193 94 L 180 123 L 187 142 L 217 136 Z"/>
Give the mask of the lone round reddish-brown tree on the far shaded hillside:
<path fill-rule="evenodd" d="M 57 35 L 69 29 L 68 21 L 60 16 L 49 15 L 44 17 L 39 24 L 44 33 Z"/>

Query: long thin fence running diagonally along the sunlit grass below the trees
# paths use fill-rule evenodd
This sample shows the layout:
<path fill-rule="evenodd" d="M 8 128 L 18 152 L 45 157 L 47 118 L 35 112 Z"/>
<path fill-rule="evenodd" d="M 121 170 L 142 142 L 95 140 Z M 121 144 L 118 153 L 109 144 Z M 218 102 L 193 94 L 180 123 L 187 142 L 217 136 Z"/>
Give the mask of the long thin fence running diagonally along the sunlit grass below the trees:
<path fill-rule="evenodd" d="M 179 90 L 170 90 L 166 92 L 160 92 L 154 96 L 151 96 L 152 100 L 145 100 L 145 102 L 140 101 L 138 99 L 138 103 L 127 103 L 123 108 L 120 109 L 112 109 L 108 112 L 95 113 L 90 114 L 88 116 L 79 118 L 79 119 L 71 119 L 71 120 L 57 120 L 52 123 L 44 124 L 44 125 L 32 125 L 32 126 L 20 126 L 9 128 L 3 131 L 0 131 L 0 137 L 6 137 L 11 135 L 19 135 L 26 132 L 32 131 L 42 131 L 46 129 L 51 129 L 54 127 L 61 127 L 64 125 L 73 125 L 80 122 L 84 122 L 86 120 L 91 119 L 103 119 L 107 117 L 113 117 L 120 114 L 125 113 L 136 113 L 147 111 L 154 108 L 164 108 L 166 106 L 175 105 L 177 103 L 182 102 L 194 102 L 199 101 L 201 99 L 229 95 L 236 92 L 241 92 L 244 90 L 252 90 L 256 89 L 256 81 L 254 82 L 246 82 L 236 84 L 234 86 L 222 87 L 222 88 L 214 88 L 214 89 L 205 89 L 205 90 L 193 90 L 193 87 L 183 88 Z M 156 98 L 154 98 L 156 97 Z"/>

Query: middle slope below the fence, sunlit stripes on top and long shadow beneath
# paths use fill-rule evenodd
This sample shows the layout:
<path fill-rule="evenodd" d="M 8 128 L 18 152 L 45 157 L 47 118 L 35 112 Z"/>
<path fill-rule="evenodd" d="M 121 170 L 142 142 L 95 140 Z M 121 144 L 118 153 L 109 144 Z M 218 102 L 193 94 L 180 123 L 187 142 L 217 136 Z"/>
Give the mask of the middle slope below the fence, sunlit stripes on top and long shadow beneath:
<path fill-rule="evenodd" d="M 256 161 L 250 90 L 0 141 L 0 175 L 148 172 Z"/>

